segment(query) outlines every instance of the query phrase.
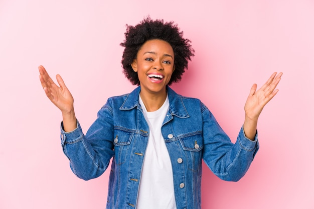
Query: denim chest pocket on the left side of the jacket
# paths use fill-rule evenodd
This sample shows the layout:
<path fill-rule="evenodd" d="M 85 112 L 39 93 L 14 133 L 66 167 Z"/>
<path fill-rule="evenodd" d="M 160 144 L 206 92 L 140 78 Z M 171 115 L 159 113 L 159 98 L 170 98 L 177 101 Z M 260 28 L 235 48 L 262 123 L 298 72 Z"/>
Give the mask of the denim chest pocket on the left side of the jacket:
<path fill-rule="evenodd" d="M 130 149 L 130 143 L 132 141 L 134 133 L 125 130 L 114 130 L 113 144 L 114 144 L 114 159 L 116 165 L 123 164 L 126 160 Z"/>

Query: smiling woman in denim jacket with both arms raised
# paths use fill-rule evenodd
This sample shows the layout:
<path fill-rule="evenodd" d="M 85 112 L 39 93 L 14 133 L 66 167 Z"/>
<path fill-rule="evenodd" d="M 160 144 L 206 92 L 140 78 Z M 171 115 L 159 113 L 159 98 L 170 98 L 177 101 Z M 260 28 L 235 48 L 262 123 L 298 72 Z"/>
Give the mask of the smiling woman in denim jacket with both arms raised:
<path fill-rule="evenodd" d="M 123 72 L 139 85 L 114 96 L 99 110 L 86 135 L 73 97 L 60 75 L 56 85 L 43 66 L 40 80 L 61 110 L 61 139 L 73 172 L 85 180 L 111 171 L 107 208 L 200 208 L 202 158 L 221 179 L 239 180 L 258 150 L 257 119 L 277 93 L 273 73 L 245 103 L 245 120 L 233 144 L 209 109 L 169 85 L 178 82 L 194 55 L 173 22 L 143 19 L 127 26 Z"/>

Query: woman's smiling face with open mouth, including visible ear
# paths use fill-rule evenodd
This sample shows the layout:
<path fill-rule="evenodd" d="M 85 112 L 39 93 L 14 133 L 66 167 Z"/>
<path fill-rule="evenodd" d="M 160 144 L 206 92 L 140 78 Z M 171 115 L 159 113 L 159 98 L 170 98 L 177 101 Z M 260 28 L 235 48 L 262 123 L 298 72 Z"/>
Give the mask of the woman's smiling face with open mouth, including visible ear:
<path fill-rule="evenodd" d="M 175 54 L 172 46 L 159 39 L 147 40 L 137 52 L 132 68 L 137 72 L 142 93 L 166 94 L 173 71 Z"/>

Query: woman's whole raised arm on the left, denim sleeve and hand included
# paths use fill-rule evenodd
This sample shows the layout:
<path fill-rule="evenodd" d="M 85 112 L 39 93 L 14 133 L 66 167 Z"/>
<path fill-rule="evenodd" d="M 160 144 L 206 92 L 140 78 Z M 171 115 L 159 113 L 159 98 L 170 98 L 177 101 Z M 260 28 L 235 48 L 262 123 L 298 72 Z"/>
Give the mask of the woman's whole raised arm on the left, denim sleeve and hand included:
<path fill-rule="evenodd" d="M 75 117 L 74 99 L 58 74 L 54 83 L 46 69 L 39 66 L 39 78 L 47 97 L 62 112 L 61 143 L 64 153 L 70 160 L 72 171 L 80 178 L 88 180 L 98 177 L 107 168 L 113 156 L 113 122 L 111 111 L 102 108 L 97 120 L 87 131 L 86 136 Z"/>

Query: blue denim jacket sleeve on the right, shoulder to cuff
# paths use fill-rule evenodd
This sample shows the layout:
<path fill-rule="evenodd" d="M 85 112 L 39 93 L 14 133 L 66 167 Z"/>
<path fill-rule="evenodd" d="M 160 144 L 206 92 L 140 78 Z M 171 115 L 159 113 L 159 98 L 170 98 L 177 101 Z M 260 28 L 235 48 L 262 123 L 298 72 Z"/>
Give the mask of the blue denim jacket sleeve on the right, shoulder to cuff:
<path fill-rule="evenodd" d="M 237 141 L 232 143 L 213 114 L 203 104 L 203 160 L 223 180 L 238 181 L 248 170 L 258 148 L 257 133 L 252 141 L 241 127 Z"/>

